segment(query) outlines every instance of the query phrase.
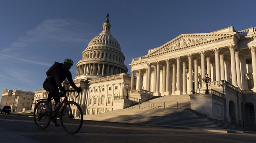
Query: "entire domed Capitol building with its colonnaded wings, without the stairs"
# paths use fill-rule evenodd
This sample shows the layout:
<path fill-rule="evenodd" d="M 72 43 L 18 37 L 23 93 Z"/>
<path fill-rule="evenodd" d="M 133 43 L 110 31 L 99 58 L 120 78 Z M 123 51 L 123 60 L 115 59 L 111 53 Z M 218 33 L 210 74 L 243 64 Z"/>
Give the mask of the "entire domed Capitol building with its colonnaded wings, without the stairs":
<path fill-rule="evenodd" d="M 102 26 L 102 32 L 90 40 L 76 64 L 74 82 L 83 92 L 79 98 L 75 98 L 76 93 L 68 96 L 80 104 L 84 115 L 172 96 L 187 97 L 189 109 L 209 118 L 237 126 L 256 125 L 256 27 L 236 31 L 230 26 L 210 33 L 181 34 L 131 59 L 129 75 L 122 45 L 111 34 L 108 15 Z M 206 84 L 204 79 L 210 81 Z M 209 93 L 205 93 L 207 88 Z M 15 99 L 7 91 L 12 90 L 2 93 L 1 105 L 7 104 L 7 98 Z M 45 90 L 36 90 L 29 105 L 46 97 Z M 173 102 L 180 102 L 179 98 Z"/>

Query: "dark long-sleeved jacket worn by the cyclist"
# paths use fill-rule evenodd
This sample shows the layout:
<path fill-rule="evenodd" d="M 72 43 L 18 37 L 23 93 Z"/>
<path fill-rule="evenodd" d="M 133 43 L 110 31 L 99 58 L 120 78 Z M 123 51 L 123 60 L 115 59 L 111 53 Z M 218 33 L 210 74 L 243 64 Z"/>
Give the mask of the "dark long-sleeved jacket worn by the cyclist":
<path fill-rule="evenodd" d="M 46 81 L 49 83 L 55 84 L 58 87 L 61 87 L 61 83 L 65 79 L 67 79 L 69 81 L 70 85 L 74 89 L 78 88 L 78 87 L 76 87 L 76 84 L 73 82 L 72 74 L 70 73 L 70 71 L 64 69 L 63 63 L 61 63 L 58 67 L 55 67 L 55 69 L 53 69 L 52 73 L 46 79 Z"/>

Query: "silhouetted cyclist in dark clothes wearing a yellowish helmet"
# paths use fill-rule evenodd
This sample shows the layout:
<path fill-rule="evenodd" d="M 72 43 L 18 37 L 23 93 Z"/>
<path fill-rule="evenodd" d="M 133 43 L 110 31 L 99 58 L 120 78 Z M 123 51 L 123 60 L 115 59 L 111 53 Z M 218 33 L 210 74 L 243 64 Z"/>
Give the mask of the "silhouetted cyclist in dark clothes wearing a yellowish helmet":
<path fill-rule="evenodd" d="M 49 103 L 51 101 L 51 98 L 54 97 L 55 101 L 55 107 L 60 102 L 60 98 L 58 95 L 60 95 L 58 88 L 61 91 L 64 91 L 65 88 L 61 85 L 61 83 L 67 79 L 75 90 L 78 92 L 81 92 L 81 88 L 77 87 L 76 84 L 73 82 L 72 75 L 70 73 L 70 68 L 73 66 L 73 61 L 71 59 L 65 59 L 64 63 L 60 63 L 57 67 L 55 67 L 50 75 L 47 77 L 47 79 L 44 81 L 43 87 L 46 91 L 48 91 L 48 97 L 47 102 L 45 104 L 45 108 L 47 112 L 51 111 L 51 108 L 49 106 Z M 58 98 L 56 98 L 58 97 Z"/>

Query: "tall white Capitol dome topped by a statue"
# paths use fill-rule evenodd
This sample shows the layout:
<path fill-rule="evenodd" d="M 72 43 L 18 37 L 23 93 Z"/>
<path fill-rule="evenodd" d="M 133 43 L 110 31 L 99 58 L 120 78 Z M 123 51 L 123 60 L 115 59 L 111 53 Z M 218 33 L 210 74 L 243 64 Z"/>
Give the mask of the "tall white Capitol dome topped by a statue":
<path fill-rule="evenodd" d="M 87 48 L 82 52 L 82 59 L 76 64 L 75 79 L 96 79 L 119 73 L 127 73 L 124 64 L 125 56 L 119 42 L 110 33 L 111 24 L 107 15 L 102 24 L 103 31 L 90 40 Z"/>

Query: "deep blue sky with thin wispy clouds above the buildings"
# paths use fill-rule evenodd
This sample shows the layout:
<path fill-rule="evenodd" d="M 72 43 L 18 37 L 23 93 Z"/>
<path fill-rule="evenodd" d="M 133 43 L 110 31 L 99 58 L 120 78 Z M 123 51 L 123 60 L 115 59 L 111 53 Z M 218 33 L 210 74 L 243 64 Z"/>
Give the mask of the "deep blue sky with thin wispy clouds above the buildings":
<path fill-rule="evenodd" d="M 0 91 L 42 89 L 54 61 L 81 59 L 107 12 L 130 71 L 132 58 L 180 34 L 255 27 L 255 5 L 255 0 L 0 0 Z M 71 72 L 74 78 L 75 66 Z"/>

